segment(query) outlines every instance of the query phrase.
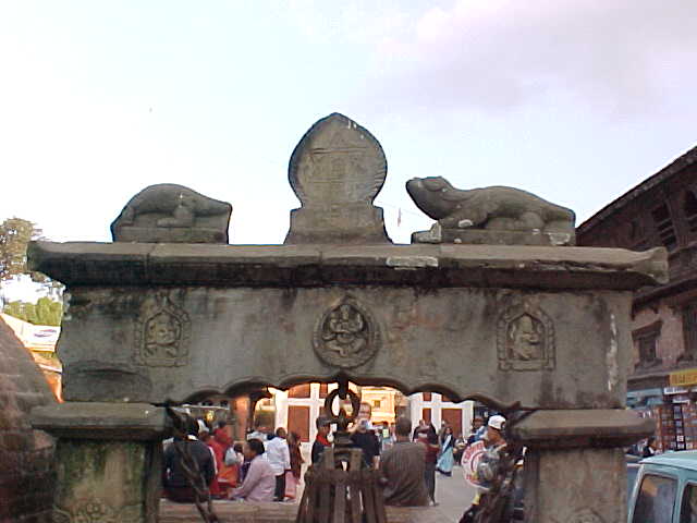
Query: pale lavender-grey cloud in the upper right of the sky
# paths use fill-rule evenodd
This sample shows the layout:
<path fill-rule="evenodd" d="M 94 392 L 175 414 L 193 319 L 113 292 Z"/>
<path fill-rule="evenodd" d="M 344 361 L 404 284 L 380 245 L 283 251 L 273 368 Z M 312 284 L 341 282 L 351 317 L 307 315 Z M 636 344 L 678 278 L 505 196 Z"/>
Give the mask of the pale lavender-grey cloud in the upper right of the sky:
<path fill-rule="evenodd" d="M 557 89 L 626 115 L 697 86 L 695 26 L 693 0 L 460 0 L 376 47 L 392 104 L 505 109 Z"/>

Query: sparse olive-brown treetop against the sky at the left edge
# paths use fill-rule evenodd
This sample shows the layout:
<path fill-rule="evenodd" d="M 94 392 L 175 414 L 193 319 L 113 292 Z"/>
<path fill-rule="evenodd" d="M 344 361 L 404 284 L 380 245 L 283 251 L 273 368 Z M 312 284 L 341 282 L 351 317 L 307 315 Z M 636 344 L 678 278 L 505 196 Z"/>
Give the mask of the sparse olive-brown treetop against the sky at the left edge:
<path fill-rule="evenodd" d="M 34 281 L 46 281 L 40 272 L 32 272 L 26 266 L 26 247 L 32 240 L 40 240 L 41 230 L 22 218 L 8 218 L 0 223 L 0 281 L 16 275 L 28 273 Z"/>

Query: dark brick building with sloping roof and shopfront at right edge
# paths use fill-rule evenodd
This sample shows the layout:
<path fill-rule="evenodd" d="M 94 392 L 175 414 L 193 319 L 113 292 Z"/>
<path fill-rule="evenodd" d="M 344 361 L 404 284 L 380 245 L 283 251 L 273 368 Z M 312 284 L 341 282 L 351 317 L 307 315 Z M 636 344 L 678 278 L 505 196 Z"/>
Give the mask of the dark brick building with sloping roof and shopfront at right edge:
<path fill-rule="evenodd" d="M 584 246 L 668 250 L 670 281 L 635 293 L 627 404 L 658 418 L 663 447 L 697 448 L 697 147 L 576 233 Z"/>

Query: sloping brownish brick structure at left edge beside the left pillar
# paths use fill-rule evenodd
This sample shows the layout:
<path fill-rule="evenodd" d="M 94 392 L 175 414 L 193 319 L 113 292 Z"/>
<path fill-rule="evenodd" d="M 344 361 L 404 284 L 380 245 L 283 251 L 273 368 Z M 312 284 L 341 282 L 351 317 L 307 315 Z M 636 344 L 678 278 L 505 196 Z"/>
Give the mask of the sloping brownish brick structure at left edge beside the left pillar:
<path fill-rule="evenodd" d="M 0 319 L 0 523 L 50 522 L 53 439 L 29 411 L 56 400 L 24 345 Z"/>

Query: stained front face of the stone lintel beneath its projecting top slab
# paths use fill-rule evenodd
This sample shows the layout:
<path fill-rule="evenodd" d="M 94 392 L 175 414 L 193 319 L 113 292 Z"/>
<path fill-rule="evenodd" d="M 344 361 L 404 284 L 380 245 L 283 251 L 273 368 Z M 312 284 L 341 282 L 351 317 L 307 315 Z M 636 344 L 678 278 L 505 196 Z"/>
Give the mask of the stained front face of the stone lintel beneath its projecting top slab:
<path fill-rule="evenodd" d="M 58 351 L 64 396 L 72 401 L 160 403 L 250 382 L 331 380 L 343 372 L 357 382 L 389 382 L 405 391 L 438 386 L 453 399 L 487 394 L 548 409 L 624 402 L 628 292 L 368 285 L 71 292 Z M 174 305 L 172 314 L 185 312 L 189 321 L 185 365 L 175 364 L 176 353 L 171 362 L 137 357 L 144 351 L 143 304 L 161 292 Z M 346 301 L 360 312 L 364 327 L 345 354 L 321 345 L 335 361 L 320 358 L 313 340 L 331 330 L 328 313 Z M 536 335 L 546 343 L 528 355 L 515 330 L 525 315 L 539 321 Z M 166 338 L 184 335 L 175 324 Z"/>

